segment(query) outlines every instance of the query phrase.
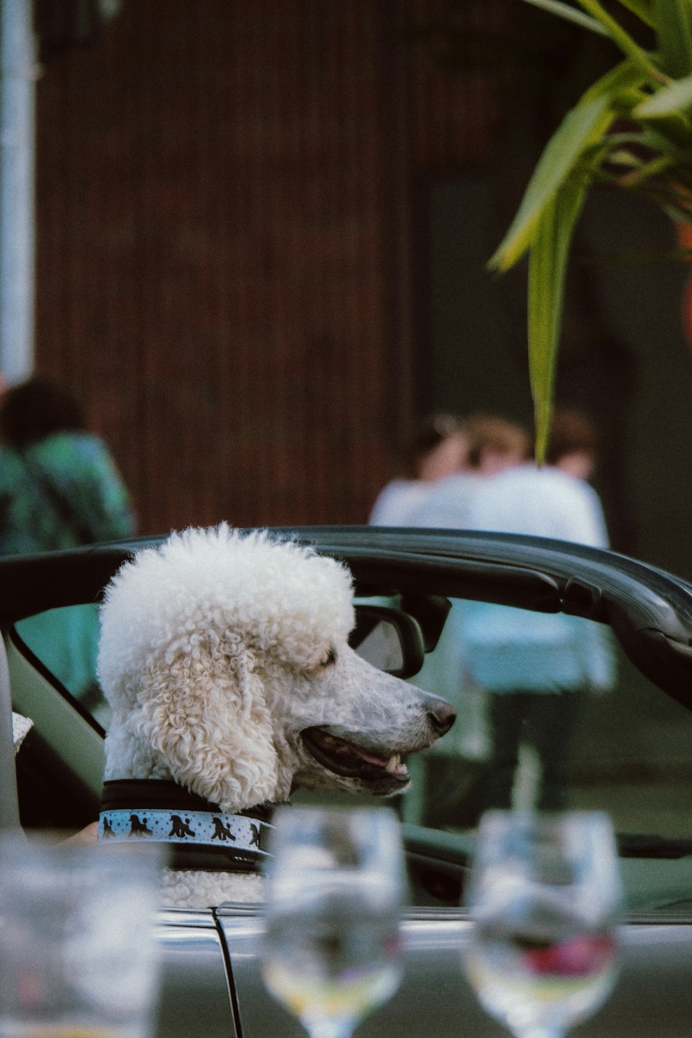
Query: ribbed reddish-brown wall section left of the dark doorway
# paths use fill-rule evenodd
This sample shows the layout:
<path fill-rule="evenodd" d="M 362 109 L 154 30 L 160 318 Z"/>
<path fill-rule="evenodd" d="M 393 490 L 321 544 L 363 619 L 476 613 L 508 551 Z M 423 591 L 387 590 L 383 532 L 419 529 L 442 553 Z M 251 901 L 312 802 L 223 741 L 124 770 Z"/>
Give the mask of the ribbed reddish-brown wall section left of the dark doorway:
<path fill-rule="evenodd" d="M 360 522 L 391 474 L 407 8 L 124 0 L 47 63 L 36 364 L 89 403 L 141 532 Z"/>

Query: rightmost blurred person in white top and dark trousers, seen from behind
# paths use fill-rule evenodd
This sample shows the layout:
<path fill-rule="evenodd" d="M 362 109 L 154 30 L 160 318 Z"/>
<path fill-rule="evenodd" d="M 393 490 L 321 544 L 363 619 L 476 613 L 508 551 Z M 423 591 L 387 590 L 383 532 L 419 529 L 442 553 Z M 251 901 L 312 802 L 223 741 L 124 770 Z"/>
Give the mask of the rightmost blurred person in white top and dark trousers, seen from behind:
<path fill-rule="evenodd" d="M 586 482 L 596 464 L 586 415 L 555 409 L 546 464 L 532 462 L 483 483 L 470 502 L 469 528 L 529 534 L 608 547 L 603 508 Z M 491 752 L 477 814 L 513 805 L 520 746 L 537 762 L 541 810 L 565 807 L 565 768 L 580 695 L 614 683 L 612 646 L 601 625 L 565 613 L 470 602 L 463 639 L 470 679 L 489 693 Z"/>

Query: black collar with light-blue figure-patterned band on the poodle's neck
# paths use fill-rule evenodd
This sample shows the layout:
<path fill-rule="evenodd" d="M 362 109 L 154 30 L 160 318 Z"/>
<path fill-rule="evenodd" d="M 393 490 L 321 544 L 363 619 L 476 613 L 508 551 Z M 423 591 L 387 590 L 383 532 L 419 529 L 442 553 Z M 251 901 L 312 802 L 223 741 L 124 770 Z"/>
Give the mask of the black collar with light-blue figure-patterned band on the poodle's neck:
<path fill-rule="evenodd" d="M 257 872 L 269 856 L 271 812 L 258 804 L 227 814 L 168 780 L 112 780 L 104 784 L 99 840 L 166 843 L 175 869 Z"/>

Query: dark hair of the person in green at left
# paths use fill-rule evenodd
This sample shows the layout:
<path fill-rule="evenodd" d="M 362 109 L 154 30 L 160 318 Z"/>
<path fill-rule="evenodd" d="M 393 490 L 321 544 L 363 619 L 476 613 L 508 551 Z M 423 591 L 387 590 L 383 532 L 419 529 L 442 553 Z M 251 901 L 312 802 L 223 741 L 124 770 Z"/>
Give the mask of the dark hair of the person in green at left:
<path fill-rule="evenodd" d="M 53 433 L 83 432 L 86 414 L 72 389 L 48 375 L 10 386 L 0 404 L 0 438 L 22 449 Z"/>

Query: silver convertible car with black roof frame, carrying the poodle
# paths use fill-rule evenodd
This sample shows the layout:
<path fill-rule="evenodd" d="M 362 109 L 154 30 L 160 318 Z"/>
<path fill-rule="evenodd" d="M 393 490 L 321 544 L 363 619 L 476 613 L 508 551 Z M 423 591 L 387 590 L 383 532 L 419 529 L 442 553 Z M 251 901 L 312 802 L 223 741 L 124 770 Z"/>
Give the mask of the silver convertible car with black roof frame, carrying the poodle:
<path fill-rule="evenodd" d="M 570 808 L 605 811 L 613 821 L 626 891 L 624 954 L 612 995 L 575 1033 L 687 1035 L 692 584 L 613 552 L 520 536 L 372 527 L 271 532 L 344 561 L 356 584 L 354 648 L 383 670 L 439 692 L 458 711 L 448 735 L 409 761 L 412 790 L 389 801 L 402 820 L 410 889 L 402 923 L 405 976 L 358 1034 L 506 1033 L 481 1010 L 462 969 L 471 926 L 466 879 L 490 766 L 492 694 L 483 687 L 482 668 L 474 676 L 466 665 L 464 632 L 468 618 L 475 618 L 482 643 L 483 625 L 477 621 L 482 608 L 493 606 L 495 618 L 499 609 L 515 627 L 539 614 L 546 659 L 551 624 L 570 617 L 583 625 L 583 651 L 605 652 L 608 660 L 603 680 L 575 700 L 578 716 L 564 761 L 563 794 Z M 59 632 L 77 619 L 95 628 L 100 596 L 111 575 L 134 551 L 157 543 L 141 539 L 0 561 L 7 657 L 0 672 L 3 825 L 19 818 L 27 828 L 77 830 L 96 818 L 108 706 L 88 644 L 76 667 L 63 658 Z M 559 656 L 555 665 L 559 668 Z M 557 674 L 555 682 L 560 683 Z M 17 712 L 33 720 L 16 761 L 9 698 Z M 539 777 L 541 759 L 531 746 L 522 746 L 516 804 L 535 802 Z M 314 797 L 298 792 L 295 800 Z M 261 904 L 160 912 L 161 1038 L 304 1033 L 264 987 L 262 925 Z"/>

